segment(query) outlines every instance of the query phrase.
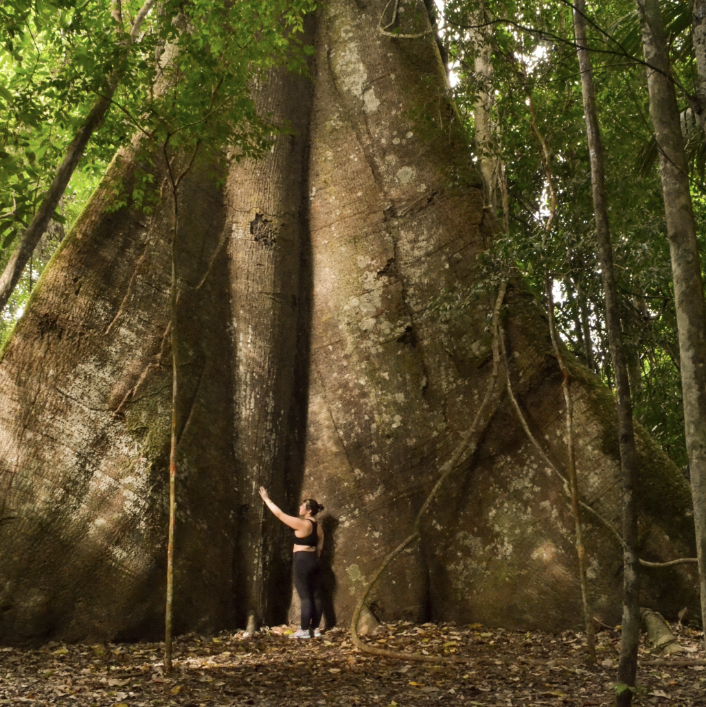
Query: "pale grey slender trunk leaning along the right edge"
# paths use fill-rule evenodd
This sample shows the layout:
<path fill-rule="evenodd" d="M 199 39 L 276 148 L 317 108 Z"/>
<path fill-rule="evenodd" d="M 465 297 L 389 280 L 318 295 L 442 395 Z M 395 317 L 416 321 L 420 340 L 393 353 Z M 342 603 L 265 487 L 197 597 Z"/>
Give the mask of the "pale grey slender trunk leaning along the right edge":
<path fill-rule="evenodd" d="M 701 616 L 706 624 L 706 308 L 679 109 L 658 0 L 637 0 L 649 88 L 649 115 L 659 147 L 659 177 L 671 254 L 679 335 L 686 450 L 699 560 Z M 695 12 L 698 8 L 695 6 Z M 695 37 L 698 52 L 701 35 Z M 702 69 L 703 67 L 701 67 Z"/>

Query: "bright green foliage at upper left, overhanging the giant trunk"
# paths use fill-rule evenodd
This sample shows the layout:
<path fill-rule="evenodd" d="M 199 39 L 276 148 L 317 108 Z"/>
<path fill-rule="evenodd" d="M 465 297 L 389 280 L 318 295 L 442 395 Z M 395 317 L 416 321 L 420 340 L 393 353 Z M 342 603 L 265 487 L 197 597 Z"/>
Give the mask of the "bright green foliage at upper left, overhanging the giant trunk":
<path fill-rule="evenodd" d="M 253 81 L 276 64 L 303 71 L 311 53 L 300 37 L 313 0 L 163 0 L 130 46 L 127 33 L 142 1 L 121 5 L 122 24 L 103 0 L 0 4 L 1 267 L 76 130 L 106 95 L 110 76 L 120 76 L 111 110 L 74 173 L 52 233 L 0 317 L 0 343 L 117 148 L 137 134 L 148 161 L 160 151 L 170 160 L 196 149 L 256 154 L 273 127 L 255 113 Z M 167 62 L 172 49 L 175 58 Z M 151 180 L 152 170 L 141 177 Z M 143 197 L 138 184 L 118 204 Z"/>

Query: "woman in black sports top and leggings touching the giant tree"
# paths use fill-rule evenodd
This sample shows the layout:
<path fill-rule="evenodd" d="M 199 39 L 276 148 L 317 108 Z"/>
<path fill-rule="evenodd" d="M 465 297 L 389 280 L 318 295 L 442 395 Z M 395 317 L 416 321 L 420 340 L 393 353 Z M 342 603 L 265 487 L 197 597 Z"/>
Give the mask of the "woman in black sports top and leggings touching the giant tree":
<path fill-rule="evenodd" d="M 311 638 L 312 635 L 318 638 L 321 635 L 318 628 L 321 620 L 318 583 L 323 530 L 314 518 L 323 510 L 323 506 L 313 498 L 307 498 L 299 506 L 299 515 L 303 518 L 294 518 L 294 515 L 282 513 L 282 510 L 272 503 L 264 486 L 260 486 L 260 496 L 267 508 L 294 530 L 294 586 L 301 600 L 301 626 L 291 638 Z"/>

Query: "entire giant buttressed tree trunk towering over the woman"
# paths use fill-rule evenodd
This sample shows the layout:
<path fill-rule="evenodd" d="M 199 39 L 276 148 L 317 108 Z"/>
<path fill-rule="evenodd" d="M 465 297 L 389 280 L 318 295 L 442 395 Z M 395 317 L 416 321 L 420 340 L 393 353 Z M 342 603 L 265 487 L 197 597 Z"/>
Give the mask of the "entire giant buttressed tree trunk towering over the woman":
<path fill-rule="evenodd" d="M 206 166 L 183 186 L 175 631 L 242 625 L 248 612 L 269 622 L 283 611 L 272 595 L 289 594 L 291 547 L 277 547 L 277 527 L 252 506 L 251 489 L 268 476 L 290 501 L 301 493 L 325 503 L 328 620 L 349 619 L 361 583 L 409 534 L 485 392 L 492 293 L 469 291 L 494 221 L 434 38 L 379 35 L 383 6 L 332 0 L 320 11 L 308 168 L 300 170 L 301 146 L 287 138 L 265 162 L 233 167 L 225 197 Z M 428 28 L 426 15 L 408 7 L 405 29 Z M 277 103 L 291 97 L 278 90 L 262 100 L 293 121 L 304 115 Z M 291 151 L 280 152 L 287 140 Z M 111 178 L 129 182 L 129 168 L 129 160 L 115 165 Z M 297 231 L 295 208 L 297 175 L 307 170 L 298 193 L 308 234 Z M 161 629 L 169 204 L 150 219 L 130 209 L 105 214 L 108 194 L 110 184 L 66 239 L 0 361 L 4 641 Z M 224 229 L 230 265 L 218 250 Z M 291 235 L 273 243 L 279 233 Z M 303 313 L 287 308 L 297 291 Z M 565 466 L 547 322 L 518 284 L 506 303 L 514 391 L 548 455 Z M 567 361 L 577 467 L 590 470 L 581 494 L 618 526 L 615 401 Z M 647 559 L 693 555 L 685 481 L 642 431 L 638 455 L 640 551 Z M 617 621 L 621 548 L 584 521 L 596 612 Z M 371 609 L 385 619 L 573 627 L 581 621 L 575 563 L 562 481 L 543 467 L 506 401 Z M 654 572 L 645 605 L 669 613 L 694 604 L 690 568 Z"/>

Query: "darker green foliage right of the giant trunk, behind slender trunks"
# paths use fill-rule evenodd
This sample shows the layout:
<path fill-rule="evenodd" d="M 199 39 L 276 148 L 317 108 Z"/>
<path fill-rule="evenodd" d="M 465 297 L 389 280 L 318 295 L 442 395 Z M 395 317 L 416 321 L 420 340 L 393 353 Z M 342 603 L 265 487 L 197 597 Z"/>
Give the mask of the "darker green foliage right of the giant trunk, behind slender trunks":
<path fill-rule="evenodd" d="M 567 0 L 488 0 L 485 26 L 492 45 L 497 134 L 495 151 L 507 172 L 509 233 L 489 258 L 494 269 L 521 273 L 546 305 L 545 275 L 558 295 L 555 315 L 568 348 L 608 385 L 613 381 L 603 326 L 591 173 Z M 589 4 L 589 45 L 606 152 L 610 226 L 618 272 L 623 330 L 630 354 L 637 419 L 681 467 L 687 464 L 678 372 L 678 341 L 669 245 L 649 121 L 635 3 Z M 691 4 L 662 1 L 671 59 L 688 140 L 695 213 L 704 240 L 705 140 L 690 113 L 695 93 Z M 441 37 L 449 52 L 456 102 L 473 135 L 473 105 L 480 89 L 468 27 L 481 4 L 449 0 Z M 477 21 L 476 21 L 477 22 Z M 550 233 L 548 190 L 536 127 L 550 147 L 557 215 Z M 502 218 L 502 209 L 499 209 Z M 586 326 L 587 325 L 587 326 Z M 589 331 L 586 332 L 586 329 Z M 591 349 L 586 346 L 590 333 Z"/>

